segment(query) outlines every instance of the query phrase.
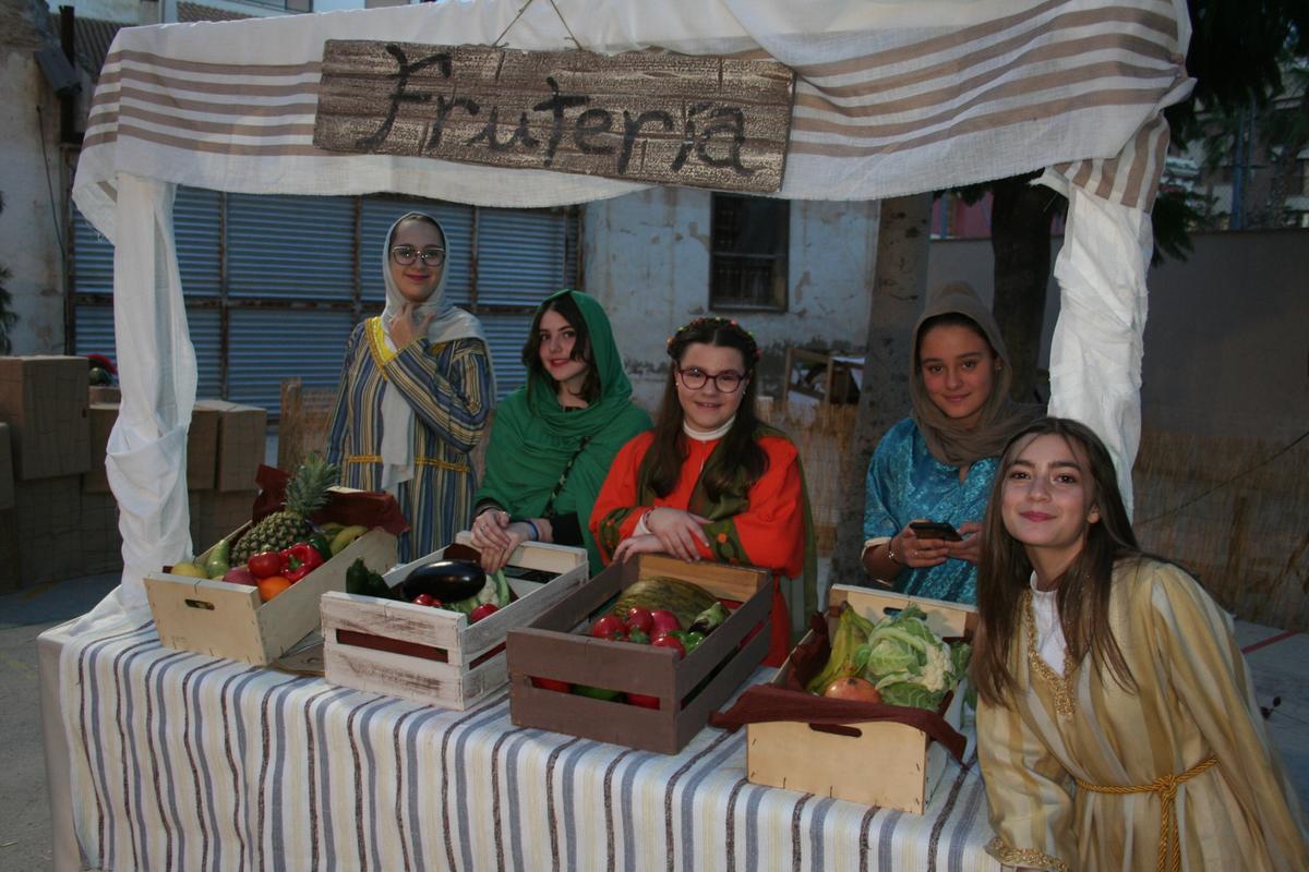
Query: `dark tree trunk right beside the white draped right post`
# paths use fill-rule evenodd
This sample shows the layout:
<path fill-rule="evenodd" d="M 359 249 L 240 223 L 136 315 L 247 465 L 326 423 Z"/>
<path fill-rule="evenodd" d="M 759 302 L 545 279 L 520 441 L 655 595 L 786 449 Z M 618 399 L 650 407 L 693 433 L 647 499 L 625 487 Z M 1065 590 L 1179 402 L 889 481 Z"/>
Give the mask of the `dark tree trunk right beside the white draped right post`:
<path fill-rule="evenodd" d="M 1041 331 L 1050 284 L 1050 218 L 1059 195 L 1029 184 L 1031 175 L 1000 179 L 992 187 L 991 251 L 995 256 L 995 299 L 991 311 L 1009 348 L 1013 397 L 1047 399 L 1037 378 Z"/>

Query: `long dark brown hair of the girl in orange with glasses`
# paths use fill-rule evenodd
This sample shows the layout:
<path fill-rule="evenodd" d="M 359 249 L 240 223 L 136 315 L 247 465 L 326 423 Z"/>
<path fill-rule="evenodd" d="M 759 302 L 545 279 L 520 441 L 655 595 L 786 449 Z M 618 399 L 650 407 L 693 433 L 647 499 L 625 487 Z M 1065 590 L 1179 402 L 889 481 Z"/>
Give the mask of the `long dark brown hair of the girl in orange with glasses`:
<path fill-rule="evenodd" d="M 677 370 L 689 345 L 703 343 L 719 348 L 734 348 L 741 352 L 745 363 L 744 396 L 737 409 L 732 429 L 713 452 L 715 463 L 704 468 L 704 490 L 709 499 L 719 499 L 724 493 L 745 493 L 768 469 L 768 455 L 754 441 L 759 426 L 755 411 L 758 386 L 754 378 L 755 363 L 759 360 L 759 346 L 754 336 L 734 320 L 726 318 L 696 318 L 679 328 L 668 341 L 668 356 L 673 358 L 668 367 L 668 382 L 664 384 L 664 400 L 660 404 L 658 418 L 654 421 L 654 441 L 649 447 L 651 486 L 660 497 L 673 493 L 682 475 L 682 458 L 686 454 L 686 434 L 682 431 L 682 401 L 677 396 Z M 726 460 L 724 460 L 726 459 Z"/>

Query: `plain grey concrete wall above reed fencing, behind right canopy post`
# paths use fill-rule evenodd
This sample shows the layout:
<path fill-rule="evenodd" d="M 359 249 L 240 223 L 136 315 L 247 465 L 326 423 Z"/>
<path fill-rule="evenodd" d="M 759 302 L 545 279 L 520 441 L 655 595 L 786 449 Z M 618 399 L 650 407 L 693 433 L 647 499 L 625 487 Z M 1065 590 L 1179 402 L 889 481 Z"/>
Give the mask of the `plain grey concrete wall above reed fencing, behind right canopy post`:
<path fill-rule="evenodd" d="M 1141 373 L 1147 428 L 1284 442 L 1309 428 L 1309 233 L 1203 233 L 1148 277 Z M 1054 241 L 1058 252 L 1062 241 Z M 991 243 L 933 242 L 928 282 L 965 278 L 990 299 Z M 1059 314 L 1054 280 L 1041 365 Z"/>

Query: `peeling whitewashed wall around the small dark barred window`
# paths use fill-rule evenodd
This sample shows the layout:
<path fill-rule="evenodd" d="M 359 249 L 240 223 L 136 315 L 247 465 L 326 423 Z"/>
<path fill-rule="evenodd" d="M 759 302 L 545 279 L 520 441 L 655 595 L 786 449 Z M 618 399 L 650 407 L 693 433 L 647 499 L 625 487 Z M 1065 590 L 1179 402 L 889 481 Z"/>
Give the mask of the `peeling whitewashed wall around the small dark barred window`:
<path fill-rule="evenodd" d="M 698 315 L 737 318 L 764 349 L 764 391 L 780 383 L 788 344 L 861 350 L 877 256 L 876 203 L 791 204 L 788 311 L 709 310 L 708 191 L 656 188 L 583 212 L 584 285 L 605 306 L 636 399 L 653 408 L 665 343 Z"/>

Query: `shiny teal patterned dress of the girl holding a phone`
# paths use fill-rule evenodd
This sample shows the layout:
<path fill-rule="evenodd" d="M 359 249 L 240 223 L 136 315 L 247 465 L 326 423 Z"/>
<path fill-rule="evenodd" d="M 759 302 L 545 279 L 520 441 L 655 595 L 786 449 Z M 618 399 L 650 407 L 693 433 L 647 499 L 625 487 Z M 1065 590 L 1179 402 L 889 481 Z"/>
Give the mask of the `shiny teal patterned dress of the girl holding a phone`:
<path fill-rule="evenodd" d="M 978 460 L 961 482 L 959 468 L 933 458 L 914 420 L 905 418 L 886 431 L 868 465 L 864 540 L 890 539 L 915 518 L 956 528 L 980 523 L 999 463 L 999 458 Z M 965 560 L 906 569 L 897 580 L 899 590 L 911 596 L 969 604 L 978 599 L 977 567 Z"/>

